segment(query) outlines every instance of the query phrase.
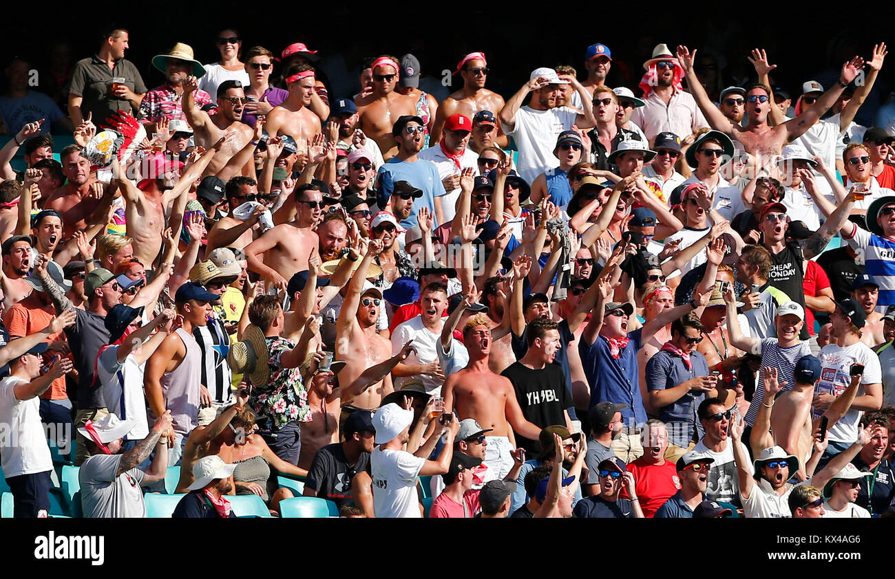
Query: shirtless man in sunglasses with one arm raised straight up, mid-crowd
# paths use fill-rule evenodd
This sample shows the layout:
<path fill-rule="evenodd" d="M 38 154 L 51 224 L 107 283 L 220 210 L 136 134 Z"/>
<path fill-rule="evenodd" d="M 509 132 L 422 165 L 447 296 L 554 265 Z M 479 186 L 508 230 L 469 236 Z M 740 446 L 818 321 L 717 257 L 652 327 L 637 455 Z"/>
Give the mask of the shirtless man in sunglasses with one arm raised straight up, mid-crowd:
<path fill-rule="evenodd" d="M 382 241 L 371 240 L 358 270 L 366 272 L 380 253 Z M 380 336 L 376 329 L 382 292 L 378 288 L 364 290 L 364 281 L 366 278 L 362 275 L 352 277 L 336 321 L 336 359 L 345 361 L 345 369 L 339 373 L 339 381 L 342 383 L 354 382 L 365 369 L 391 357 L 391 342 Z M 379 407 L 382 399 L 392 390 L 395 390 L 392 377 L 388 375 L 382 382 L 357 396 L 354 406 L 370 409 Z"/>

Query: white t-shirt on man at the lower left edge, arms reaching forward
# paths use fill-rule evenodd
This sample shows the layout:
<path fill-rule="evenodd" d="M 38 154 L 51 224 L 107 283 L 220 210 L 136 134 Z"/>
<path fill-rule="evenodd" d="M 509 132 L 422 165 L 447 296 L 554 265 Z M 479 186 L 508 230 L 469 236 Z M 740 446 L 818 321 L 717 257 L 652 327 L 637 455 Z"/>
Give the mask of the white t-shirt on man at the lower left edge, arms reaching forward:
<path fill-rule="evenodd" d="M 28 383 L 15 376 L 0 380 L 0 466 L 6 478 L 53 470 L 47 433 L 40 424 L 40 399 L 15 398 L 15 386 Z"/>

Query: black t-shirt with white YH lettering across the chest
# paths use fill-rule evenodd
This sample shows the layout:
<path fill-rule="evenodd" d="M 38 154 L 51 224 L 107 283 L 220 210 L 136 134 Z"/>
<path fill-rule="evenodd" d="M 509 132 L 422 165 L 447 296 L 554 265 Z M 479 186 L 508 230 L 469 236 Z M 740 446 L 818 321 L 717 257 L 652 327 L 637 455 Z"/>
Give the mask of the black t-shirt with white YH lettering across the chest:
<path fill-rule="evenodd" d="M 548 364 L 541 370 L 533 370 L 516 362 L 500 375 L 513 382 L 516 400 L 525 419 L 541 428 L 554 424 L 566 424 L 566 410 L 572 407 L 572 395 L 566 388 L 566 375 L 558 365 Z M 516 444 L 529 453 L 541 452 L 538 441 L 516 434 Z"/>

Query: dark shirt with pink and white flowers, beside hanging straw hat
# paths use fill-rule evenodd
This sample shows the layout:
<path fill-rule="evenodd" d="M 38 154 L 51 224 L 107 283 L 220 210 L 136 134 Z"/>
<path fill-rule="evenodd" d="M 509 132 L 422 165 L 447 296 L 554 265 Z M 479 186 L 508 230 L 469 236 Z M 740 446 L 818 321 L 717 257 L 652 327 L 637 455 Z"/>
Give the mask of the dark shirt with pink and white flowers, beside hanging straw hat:
<path fill-rule="evenodd" d="M 270 378 L 266 386 L 251 390 L 249 406 L 262 427 L 277 431 L 292 422 L 311 422 L 308 390 L 298 368 L 284 368 L 280 357 L 295 347 L 285 338 L 267 338 Z"/>

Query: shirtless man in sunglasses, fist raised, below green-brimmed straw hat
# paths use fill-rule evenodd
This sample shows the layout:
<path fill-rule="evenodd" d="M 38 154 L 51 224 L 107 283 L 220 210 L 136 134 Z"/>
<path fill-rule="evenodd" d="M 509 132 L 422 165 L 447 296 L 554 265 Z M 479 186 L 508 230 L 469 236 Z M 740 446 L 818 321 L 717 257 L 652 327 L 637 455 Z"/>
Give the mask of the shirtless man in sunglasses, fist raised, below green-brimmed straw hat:
<path fill-rule="evenodd" d="M 252 128 L 240 122 L 246 98 L 243 87 L 238 80 L 225 80 L 217 87 L 217 114 L 214 117 L 201 110 L 192 93 L 199 88 L 199 80 L 189 77 L 183 81 L 183 114 L 190 123 L 196 145 L 209 149 L 214 147 L 225 134 L 232 135 L 226 139 L 226 146 L 221 147 L 212 163 L 205 168 L 202 177 L 217 175 L 231 157 L 239 153 L 252 137 Z"/>

